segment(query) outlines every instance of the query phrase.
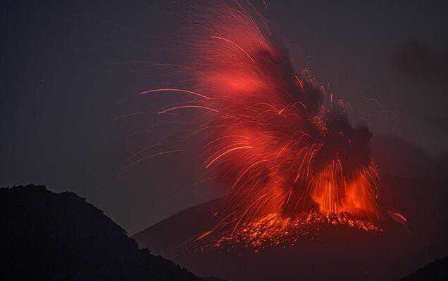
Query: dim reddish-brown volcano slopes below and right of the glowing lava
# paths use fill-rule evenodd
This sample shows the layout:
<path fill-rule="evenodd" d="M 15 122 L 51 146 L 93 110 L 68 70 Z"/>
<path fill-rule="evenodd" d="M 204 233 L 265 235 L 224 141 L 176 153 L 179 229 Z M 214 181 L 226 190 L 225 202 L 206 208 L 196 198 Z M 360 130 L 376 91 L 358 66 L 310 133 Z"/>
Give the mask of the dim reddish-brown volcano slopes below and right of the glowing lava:
<path fill-rule="evenodd" d="M 374 150 L 381 161 L 401 155 L 412 159 L 382 175 L 382 189 L 389 199 L 383 209 L 399 211 L 406 226 L 385 215 L 382 233 L 325 226 L 318 237 L 300 239 L 290 247 L 250 247 L 192 252 L 189 242 L 220 221 L 226 198 L 180 211 L 135 234 L 140 247 L 171 259 L 198 275 L 226 280 L 399 280 L 430 261 L 448 254 L 447 158 L 434 159 L 396 138 L 380 139 Z M 399 147 L 399 150 L 394 150 Z M 391 153 L 394 153 L 393 155 Z M 398 158 L 398 159 L 397 159 Z M 397 171 L 396 174 L 390 174 Z M 217 215 L 218 214 L 218 215 Z M 173 233 L 173 235 L 166 235 Z"/>

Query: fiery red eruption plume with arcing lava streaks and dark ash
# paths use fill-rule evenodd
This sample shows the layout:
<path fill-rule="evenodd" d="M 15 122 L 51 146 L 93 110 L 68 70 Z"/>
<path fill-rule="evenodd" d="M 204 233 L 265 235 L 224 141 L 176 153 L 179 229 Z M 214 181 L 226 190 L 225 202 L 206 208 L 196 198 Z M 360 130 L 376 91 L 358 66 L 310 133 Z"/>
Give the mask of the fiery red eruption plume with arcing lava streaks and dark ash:
<path fill-rule="evenodd" d="M 273 27 L 248 1 L 204 14 L 201 36 L 190 44 L 194 60 L 166 65 L 188 75 L 194 89 L 142 92 L 191 96 L 158 115 L 198 113 L 185 140 L 200 139 L 206 175 L 228 187 L 222 219 L 196 241 L 215 235 L 214 246 L 260 247 L 323 223 L 380 231 L 372 133 L 352 125 L 350 106 L 308 71 L 294 71 Z"/>

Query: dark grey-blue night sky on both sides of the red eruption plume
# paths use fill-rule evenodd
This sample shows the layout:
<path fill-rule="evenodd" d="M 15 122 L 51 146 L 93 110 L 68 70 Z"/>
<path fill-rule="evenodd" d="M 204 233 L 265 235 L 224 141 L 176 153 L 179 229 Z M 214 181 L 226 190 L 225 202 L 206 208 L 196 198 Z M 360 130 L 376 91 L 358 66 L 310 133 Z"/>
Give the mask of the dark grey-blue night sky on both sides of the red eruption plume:
<path fill-rule="evenodd" d="M 163 157 L 114 176 L 141 145 L 131 134 L 154 120 L 111 119 L 167 101 L 137 96 L 160 78 L 125 63 L 175 60 L 166 42 L 175 49 L 173 34 L 185 21 L 171 13 L 178 5 L 160 2 L 1 2 L 1 186 L 74 191 L 129 233 L 215 195 L 210 184 L 190 184 L 187 158 Z M 374 133 L 393 133 L 433 155 L 447 151 L 446 4 L 335 2 L 269 1 L 295 65 L 355 107 L 373 97 L 399 115 L 397 124 L 376 116 Z"/>

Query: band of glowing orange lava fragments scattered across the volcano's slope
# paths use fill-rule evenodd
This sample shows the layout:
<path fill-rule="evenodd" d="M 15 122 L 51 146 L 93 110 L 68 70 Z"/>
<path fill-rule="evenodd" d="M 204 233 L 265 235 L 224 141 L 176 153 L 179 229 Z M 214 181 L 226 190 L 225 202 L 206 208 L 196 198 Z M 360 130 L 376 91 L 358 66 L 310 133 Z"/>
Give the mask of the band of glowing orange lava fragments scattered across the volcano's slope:
<path fill-rule="evenodd" d="M 237 247 L 248 247 L 255 252 L 266 247 L 291 247 L 304 240 L 313 240 L 325 226 L 342 226 L 353 230 L 381 233 L 375 224 L 347 213 L 321 214 L 302 212 L 294 217 L 268 214 L 254 221 L 243 223 L 235 232 L 208 231 L 192 244 L 192 251 L 202 252 L 222 248 L 231 251 Z M 213 235 L 213 237 L 209 237 Z M 205 238 L 205 239 L 204 239 Z M 209 238 L 209 239 L 207 239 Z"/>

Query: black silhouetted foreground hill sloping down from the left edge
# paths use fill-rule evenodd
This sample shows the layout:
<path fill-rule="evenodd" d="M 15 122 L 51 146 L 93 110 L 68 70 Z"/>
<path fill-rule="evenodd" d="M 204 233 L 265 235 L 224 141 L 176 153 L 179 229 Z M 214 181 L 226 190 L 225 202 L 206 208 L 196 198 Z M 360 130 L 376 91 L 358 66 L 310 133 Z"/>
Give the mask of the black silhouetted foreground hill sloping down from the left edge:
<path fill-rule="evenodd" d="M 72 192 L 0 189 L 0 280 L 200 280 Z"/>

